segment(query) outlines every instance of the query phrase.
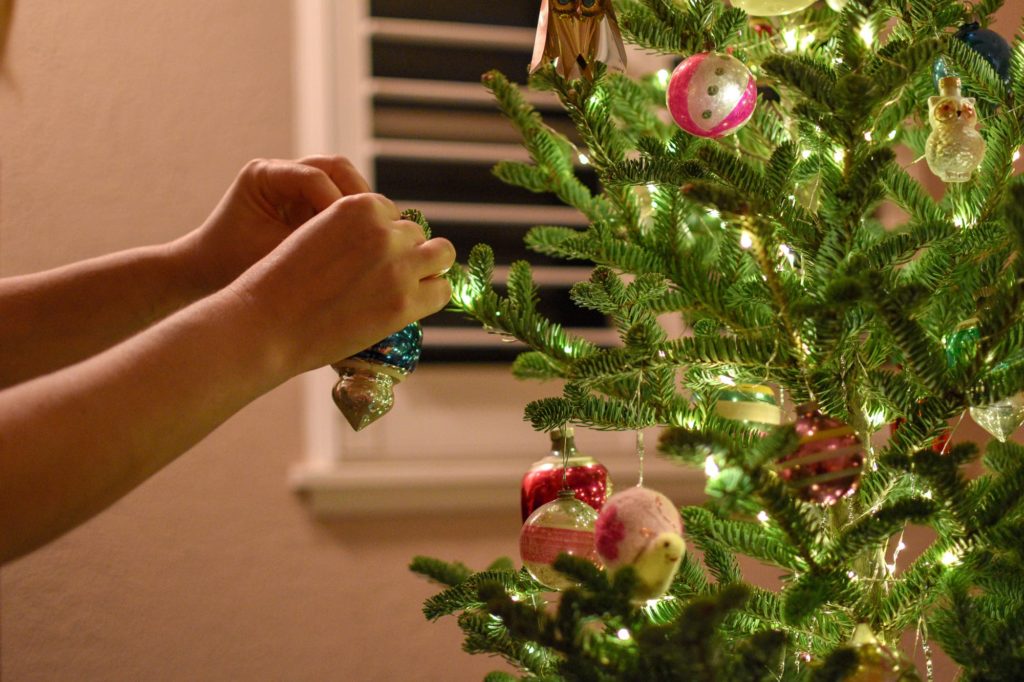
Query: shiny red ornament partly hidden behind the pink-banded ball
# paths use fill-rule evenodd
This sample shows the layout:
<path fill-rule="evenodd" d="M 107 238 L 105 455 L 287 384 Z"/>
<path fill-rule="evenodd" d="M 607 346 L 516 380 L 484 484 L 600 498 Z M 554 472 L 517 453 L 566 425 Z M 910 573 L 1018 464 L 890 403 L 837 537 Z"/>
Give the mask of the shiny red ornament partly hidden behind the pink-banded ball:
<path fill-rule="evenodd" d="M 595 511 L 601 511 L 605 499 L 611 494 L 607 468 L 577 451 L 571 428 L 552 431 L 551 454 L 534 462 L 523 475 L 519 491 L 522 520 L 525 521 L 539 507 L 557 498 L 563 488 L 571 489 L 577 500 L 586 502 Z"/>

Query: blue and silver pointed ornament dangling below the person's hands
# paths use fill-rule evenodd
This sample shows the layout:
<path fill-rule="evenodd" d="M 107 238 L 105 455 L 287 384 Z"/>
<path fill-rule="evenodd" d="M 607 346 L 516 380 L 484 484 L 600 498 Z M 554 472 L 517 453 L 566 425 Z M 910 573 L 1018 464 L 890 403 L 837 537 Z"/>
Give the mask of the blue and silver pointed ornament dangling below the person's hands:
<path fill-rule="evenodd" d="M 331 395 L 353 429 L 361 431 L 391 410 L 394 385 L 416 369 L 422 350 L 423 328 L 413 323 L 331 366 L 339 377 Z"/>

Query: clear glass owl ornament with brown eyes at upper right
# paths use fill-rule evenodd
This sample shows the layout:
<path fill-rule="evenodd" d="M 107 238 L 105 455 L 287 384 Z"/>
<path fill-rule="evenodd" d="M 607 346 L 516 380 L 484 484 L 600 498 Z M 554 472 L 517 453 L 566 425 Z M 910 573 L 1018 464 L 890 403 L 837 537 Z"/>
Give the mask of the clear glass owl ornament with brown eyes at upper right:
<path fill-rule="evenodd" d="M 974 97 L 961 96 L 958 78 L 943 78 L 939 91 L 928 98 L 932 132 L 925 143 L 925 160 L 943 182 L 967 182 L 985 156 L 985 140 L 975 129 Z"/>

